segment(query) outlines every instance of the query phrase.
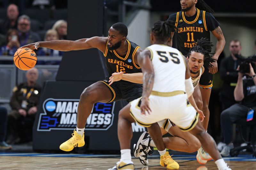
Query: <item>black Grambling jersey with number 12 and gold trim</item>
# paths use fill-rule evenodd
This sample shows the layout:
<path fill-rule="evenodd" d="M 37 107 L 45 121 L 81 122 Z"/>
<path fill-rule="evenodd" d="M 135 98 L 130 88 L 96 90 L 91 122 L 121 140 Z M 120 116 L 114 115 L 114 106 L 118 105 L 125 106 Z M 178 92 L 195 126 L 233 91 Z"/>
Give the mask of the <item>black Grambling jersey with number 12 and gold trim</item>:
<path fill-rule="evenodd" d="M 139 73 L 142 72 L 140 67 L 134 63 L 134 55 L 140 46 L 126 40 L 128 43 L 128 51 L 125 56 L 119 56 L 115 50 L 108 50 L 108 42 L 104 53 L 106 66 L 109 76 L 114 72 Z M 122 81 L 122 80 L 121 80 Z"/>

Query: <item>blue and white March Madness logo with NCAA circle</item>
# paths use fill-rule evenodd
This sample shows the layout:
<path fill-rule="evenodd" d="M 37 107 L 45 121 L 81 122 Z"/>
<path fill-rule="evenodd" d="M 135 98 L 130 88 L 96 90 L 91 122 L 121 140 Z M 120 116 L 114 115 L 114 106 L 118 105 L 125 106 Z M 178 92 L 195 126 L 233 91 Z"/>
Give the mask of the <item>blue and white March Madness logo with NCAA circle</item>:
<path fill-rule="evenodd" d="M 39 115 L 37 131 L 75 129 L 78 103 L 79 100 L 76 99 L 46 99 L 43 103 L 44 113 Z M 110 128 L 114 120 L 114 107 L 115 102 L 95 103 L 85 129 L 107 130 Z"/>

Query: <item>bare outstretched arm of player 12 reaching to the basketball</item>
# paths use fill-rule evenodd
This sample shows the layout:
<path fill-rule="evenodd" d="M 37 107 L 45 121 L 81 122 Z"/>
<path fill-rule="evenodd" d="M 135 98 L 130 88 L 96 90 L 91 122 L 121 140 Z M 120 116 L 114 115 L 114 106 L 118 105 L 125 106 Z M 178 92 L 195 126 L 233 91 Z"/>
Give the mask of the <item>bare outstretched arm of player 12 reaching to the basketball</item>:
<path fill-rule="evenodd" d="M 89 48 L 98 48 L 103 53 L 105 52 L 106 43 L 108 37 L 91 37 L 84 38 L 76 41 L 70 40 L 54 40 L 54 41 L 39 41 L 31 43 L 20 48 L 31 48 L 37 49 L 39 47 L 51 48 L 58 51 L 71 51 L 71 50 L 82 50 Z"/>

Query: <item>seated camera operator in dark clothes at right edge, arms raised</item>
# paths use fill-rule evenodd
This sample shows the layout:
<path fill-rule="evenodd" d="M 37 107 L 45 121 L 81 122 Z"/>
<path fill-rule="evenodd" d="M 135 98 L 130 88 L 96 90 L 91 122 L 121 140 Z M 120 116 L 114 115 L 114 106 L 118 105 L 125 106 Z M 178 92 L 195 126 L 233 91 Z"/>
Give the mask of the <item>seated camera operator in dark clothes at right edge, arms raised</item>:
<path fill-rule="evenodd" d="M 254 65 L 254 64 L 253 64 Z M 237 70 L 240 70 L 238 66 Z M 225 146 L 220 152 L 222 156 L 228 156 L 230 149 L 234 148 L 231 141 L 232 123 L 247 116 L 248 111 L 256 109 L 256 75 L 250 64 L 249 73 L 238 72 L 237 84 L 234 90 L 235 100 L 239 103 L 225 109 L 220 115 L 221 131 L 224 137 Z"/>

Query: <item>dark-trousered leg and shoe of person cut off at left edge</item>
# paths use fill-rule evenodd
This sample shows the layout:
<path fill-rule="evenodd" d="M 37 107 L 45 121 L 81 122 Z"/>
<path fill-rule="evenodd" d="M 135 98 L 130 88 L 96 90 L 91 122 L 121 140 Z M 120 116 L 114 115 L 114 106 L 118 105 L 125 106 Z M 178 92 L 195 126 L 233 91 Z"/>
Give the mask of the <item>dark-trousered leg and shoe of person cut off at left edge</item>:
<path fill-rule="evenodd" d="M 12 146 L 4 142 L 6 134 L 7 110 L 0 106 L 0 150 L 11 149 Z"/>

